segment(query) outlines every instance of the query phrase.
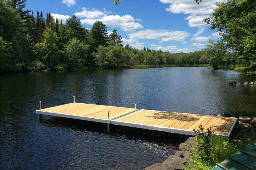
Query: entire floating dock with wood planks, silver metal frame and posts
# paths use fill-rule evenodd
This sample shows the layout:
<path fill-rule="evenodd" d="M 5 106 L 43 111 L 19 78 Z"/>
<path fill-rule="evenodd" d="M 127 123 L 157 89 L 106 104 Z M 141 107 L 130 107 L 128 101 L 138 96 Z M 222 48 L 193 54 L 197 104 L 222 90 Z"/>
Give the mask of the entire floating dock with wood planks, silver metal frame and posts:
<path fill-rule="evenodd" d="M 104 106 L 74 102 L 55 107 L 36 110 L 39 119 L 42 115 L 59 116 L 92 122 L 152 129 L 165 132 L 195 135 L 193 129 L 202 125 L 204 129 L 212 127 L 214 135 L 228 139 L 237 118 L 196 115 L 127 107 Z"/>

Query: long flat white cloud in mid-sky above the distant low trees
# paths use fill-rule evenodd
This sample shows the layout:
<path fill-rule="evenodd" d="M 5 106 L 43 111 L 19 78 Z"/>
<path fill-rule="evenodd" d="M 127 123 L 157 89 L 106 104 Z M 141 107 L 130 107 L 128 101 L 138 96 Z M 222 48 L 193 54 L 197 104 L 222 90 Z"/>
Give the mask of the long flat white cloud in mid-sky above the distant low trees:
<path fill-rule="evenodd" d="M 160 41 L 184 41 L 189 36 L 187 31 L 167 31 L 167 30 L 140 30 L 128 34 L 132 39 L 153 39 Z"/>

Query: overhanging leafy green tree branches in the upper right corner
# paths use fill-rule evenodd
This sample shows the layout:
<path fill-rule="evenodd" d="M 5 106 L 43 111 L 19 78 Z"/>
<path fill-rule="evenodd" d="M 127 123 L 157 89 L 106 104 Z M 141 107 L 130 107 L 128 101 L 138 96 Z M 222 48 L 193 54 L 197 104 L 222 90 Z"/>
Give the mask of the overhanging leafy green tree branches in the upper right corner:
<path fill-rule="evenodd" d="M 256 61 L 256 1 L 229 0 L 217 6 L 205 21 L 221 32 L 227 47 L 249 66 Z"/>

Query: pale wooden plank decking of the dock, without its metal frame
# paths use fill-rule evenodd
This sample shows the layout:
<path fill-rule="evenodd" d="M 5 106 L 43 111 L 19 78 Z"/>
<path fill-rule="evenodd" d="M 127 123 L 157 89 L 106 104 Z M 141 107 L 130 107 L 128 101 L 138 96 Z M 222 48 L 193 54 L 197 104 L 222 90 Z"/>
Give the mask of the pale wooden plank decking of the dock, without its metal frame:
<path fill-rule="evenodd" d="M 118 122 L 127 122 L 190 131 L 194 129 L 197 130 L 199 129 L 198 127 L 202 125 L 205 132 L 207 128 L 212 127 L 213 133 L 219 135 L 227 135 L 230 128 L 232 127 L 233 122 L 236 120 L 236 118 L 229 117 L 174 113 L 145 109 L 136 110 L 134 108 L 84 103 L 69 103 L 65 105 L 42 109 L 42 111 L 45 112 L 92 117 L 104 120 L 108 120 L 108 110 L 110 111 L 109 119 L 114 119 L 121 116 L 114 120 Z"/>

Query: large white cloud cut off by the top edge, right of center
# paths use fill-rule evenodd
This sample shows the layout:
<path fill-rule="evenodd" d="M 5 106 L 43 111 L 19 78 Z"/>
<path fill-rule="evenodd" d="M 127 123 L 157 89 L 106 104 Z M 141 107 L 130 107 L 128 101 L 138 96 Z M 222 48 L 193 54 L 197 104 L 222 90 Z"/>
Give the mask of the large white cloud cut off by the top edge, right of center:
<path fill-rule="evenodd" d="M 223 0 L 204 0 L 200 4 L 197 4 L 194 0 L 160 0 L 164 4 L 171 4 L 166 11 L 172 13 L 185 13 L 185 14 L 210 14 L 213 9 L 217 8 L 216 2 Z"/>

